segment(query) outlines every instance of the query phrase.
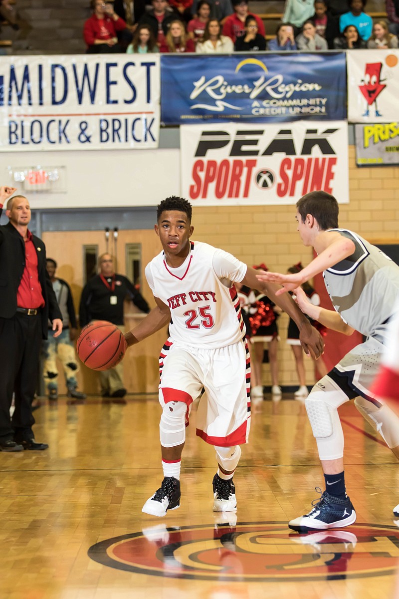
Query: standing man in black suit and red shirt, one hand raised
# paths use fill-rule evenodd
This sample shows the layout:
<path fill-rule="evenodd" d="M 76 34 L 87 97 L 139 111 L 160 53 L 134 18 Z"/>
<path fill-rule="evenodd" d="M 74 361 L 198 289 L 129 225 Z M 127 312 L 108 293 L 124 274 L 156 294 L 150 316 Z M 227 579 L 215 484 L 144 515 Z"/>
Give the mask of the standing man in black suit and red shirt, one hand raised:
<path fill-rule="evenodd" d="M 54 337 L 62 332 L 62 314 L 47 273 L 45 245 L 28 229 L 28 200 L 22 195 L 11 198 L 14 192 L 15 187 L 0 187 L 0 215 L 8 199 L 5 213 L 9 220 L 0 226 L 0 451 L 7 452 L 48 447 L 33 437 L 32 401 L 48 319 Z"/>

